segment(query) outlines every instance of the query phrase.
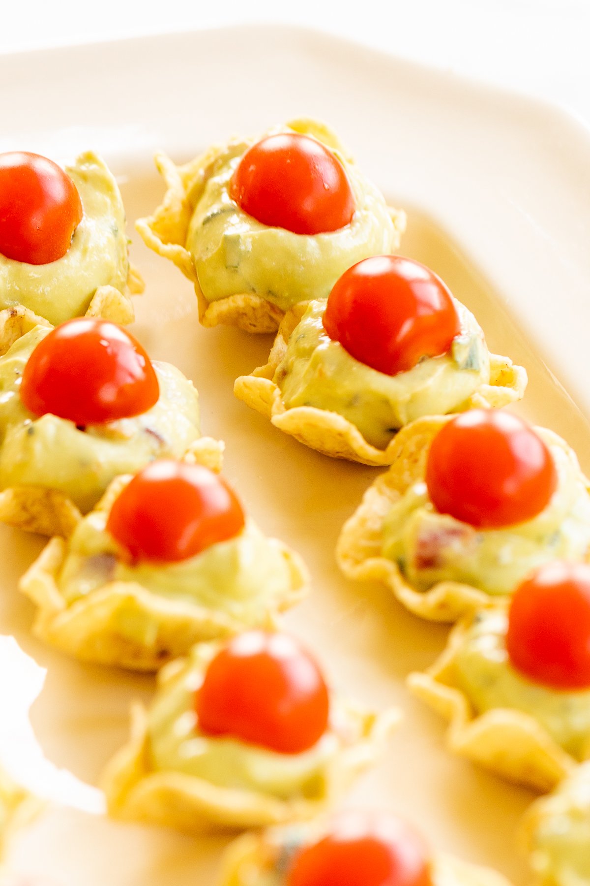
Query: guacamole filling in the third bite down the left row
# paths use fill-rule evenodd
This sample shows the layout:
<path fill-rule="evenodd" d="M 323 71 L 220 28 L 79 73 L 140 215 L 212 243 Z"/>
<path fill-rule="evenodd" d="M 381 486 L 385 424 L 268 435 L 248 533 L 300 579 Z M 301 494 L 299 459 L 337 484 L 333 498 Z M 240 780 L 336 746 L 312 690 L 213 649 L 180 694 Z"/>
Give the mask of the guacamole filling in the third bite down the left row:
<path fill-rule="evenodd" d="M 106 511 L 92 511 L 73 532 L 57 578 L 66 602 L 91 594 L 111 581 L 136 582 L 152 594 L 197 603 L 224 612 L 245 626 L 278 608 L 291 590 L 281 548 L 248 520 L 233 539 L 218 541 L 178 563 L 129 562 L 106 531 Z"/>

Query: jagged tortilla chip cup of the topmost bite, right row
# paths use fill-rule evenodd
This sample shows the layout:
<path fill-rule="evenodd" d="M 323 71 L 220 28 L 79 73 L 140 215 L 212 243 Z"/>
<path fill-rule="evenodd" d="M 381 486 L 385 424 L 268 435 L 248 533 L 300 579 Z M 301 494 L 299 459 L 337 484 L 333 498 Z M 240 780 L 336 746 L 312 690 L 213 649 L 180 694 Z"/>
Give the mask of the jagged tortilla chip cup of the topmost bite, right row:
<path fill-rule="evenodd" d="M 292 120 L 287 126 L 296 132 L 315 136 L 351 161 L 349 152 L 340 140 L 322 123 L 301 119 Z M 155 161 L 165 181 L 165 196 L 155 212 L 145 219 L 138 219 L 135 227 L 150 249 L 172 261 L 195 286 L 199 320 L 203 326 L 223 323 L 246 332 L 276 332 L 285 312 L 258 295 L 241 292 L 225 299 L 208 301 L 199 285 L 192 256 L 185 246 L 196 199 L 203 184 L 214 174 L 216 164 L 225 151 L 226 146 L 215 145 L 180 167 L 172 163 L 164 152 L 157 152 Z M 397 234 L 397 248 L 406 228 L 406 215 L 393 207 L 389 207 L 389 214 Z"/>

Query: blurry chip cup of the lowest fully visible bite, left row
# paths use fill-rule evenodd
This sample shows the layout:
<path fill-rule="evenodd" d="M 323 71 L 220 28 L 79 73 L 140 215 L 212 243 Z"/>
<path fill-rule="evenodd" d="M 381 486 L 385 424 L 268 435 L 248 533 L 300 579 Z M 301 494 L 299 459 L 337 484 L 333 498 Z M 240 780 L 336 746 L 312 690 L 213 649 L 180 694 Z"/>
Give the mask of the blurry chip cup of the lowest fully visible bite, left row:
<path fill-rule="evenodd" d="M 177 664 L 167 665 L 163 680 L 166 670 L 176 670 Z M 347 731 L 355 739 L 337 753 L 326 777 L 318 780 L 317 796 L 282 800 L 254 790 L 221 788 L 185 773 L 154 770 L 146 711 L 136 703 L 129 742 L 111 760 L 103 777 L 109 813 L 114 818 L 179 828 L 195 835 L 310 819 L 372 765 L 399 719 L 395 711 L 375 714 L 352 706 L 347 706 L 346 716 Z"/>

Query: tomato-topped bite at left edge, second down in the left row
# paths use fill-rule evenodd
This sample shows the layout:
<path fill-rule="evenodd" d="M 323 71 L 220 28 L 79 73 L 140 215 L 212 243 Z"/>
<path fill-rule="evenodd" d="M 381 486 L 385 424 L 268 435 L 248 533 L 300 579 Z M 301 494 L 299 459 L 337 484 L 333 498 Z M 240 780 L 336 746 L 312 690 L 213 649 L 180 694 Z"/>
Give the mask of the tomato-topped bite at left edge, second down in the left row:
<path fill-rule="evenodd" d="M 115 323 L 0 311 L 0 394 L 0 520 L 30 532 L 69 535 L 113 478 L 155 458 L 219 465 L 195 387 Z"/>

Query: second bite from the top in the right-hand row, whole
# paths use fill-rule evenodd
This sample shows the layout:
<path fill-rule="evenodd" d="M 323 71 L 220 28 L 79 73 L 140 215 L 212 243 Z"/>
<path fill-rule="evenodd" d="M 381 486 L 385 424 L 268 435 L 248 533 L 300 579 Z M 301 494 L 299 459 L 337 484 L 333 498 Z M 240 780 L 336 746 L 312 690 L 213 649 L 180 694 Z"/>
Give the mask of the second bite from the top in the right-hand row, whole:
<path fill-rule="evenodd" d="M 488 352 L 440 277 L 379 255 L 349 268 L 327 301 L 290 310 L 266 366 L 234 393 L 312 449 L 380 465 L 420 416 L 504 406 L 525 386 L 525 369 Z"/>

